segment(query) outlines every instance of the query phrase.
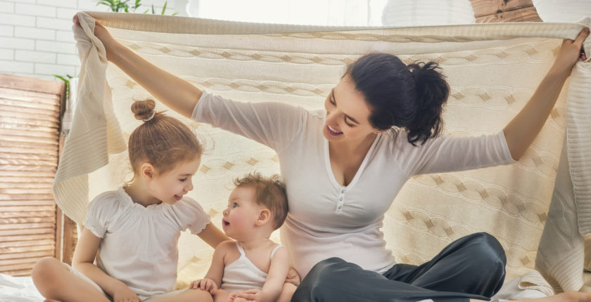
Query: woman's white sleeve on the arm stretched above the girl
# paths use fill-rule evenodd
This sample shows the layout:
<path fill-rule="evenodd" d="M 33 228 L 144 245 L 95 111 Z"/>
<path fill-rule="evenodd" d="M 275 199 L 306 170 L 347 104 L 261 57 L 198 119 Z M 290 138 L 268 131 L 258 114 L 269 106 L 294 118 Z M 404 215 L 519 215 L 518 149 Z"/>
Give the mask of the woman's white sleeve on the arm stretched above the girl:
<path fill-rule="evenodd" d="M 191 119 L 245 136 L 281 152 L 302 131 L 307 110 L 265 102 L 245 103 L 203 91 Z"/>

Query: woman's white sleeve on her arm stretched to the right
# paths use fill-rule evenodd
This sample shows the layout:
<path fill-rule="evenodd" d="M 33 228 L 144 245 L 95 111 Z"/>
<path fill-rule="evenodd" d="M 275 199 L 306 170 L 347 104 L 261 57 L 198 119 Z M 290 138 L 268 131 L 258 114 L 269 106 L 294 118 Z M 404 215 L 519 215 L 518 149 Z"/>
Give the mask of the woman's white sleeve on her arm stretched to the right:
<path fill-rule="evenodd" d="M 478 169 L 516 162 L 511 157 L 503 131 L 492 135 L 440 136 L 425 145 L 410 144 L 405 158 L 409 175 Z"/>

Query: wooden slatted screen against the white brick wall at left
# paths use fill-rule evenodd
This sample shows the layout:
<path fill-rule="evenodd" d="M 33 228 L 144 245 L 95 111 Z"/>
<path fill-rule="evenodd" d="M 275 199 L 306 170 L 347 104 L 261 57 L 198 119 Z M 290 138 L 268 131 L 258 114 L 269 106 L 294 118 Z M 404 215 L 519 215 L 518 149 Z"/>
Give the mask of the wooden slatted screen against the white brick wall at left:
<path fill-rule="evenodd" d="M 51 184 L 64 96 L 63 81 L 0 74 L 0 273 L 30 275 L 60 253 Z"/>

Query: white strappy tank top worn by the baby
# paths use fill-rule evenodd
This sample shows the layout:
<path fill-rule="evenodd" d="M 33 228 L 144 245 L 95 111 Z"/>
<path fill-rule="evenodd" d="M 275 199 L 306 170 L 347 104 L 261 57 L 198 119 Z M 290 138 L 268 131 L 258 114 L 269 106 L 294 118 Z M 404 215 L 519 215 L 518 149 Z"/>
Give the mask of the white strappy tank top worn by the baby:
<path fill-rule="evenodd" d="M 262 289 L 262 285 L 265 284 L 265 280 L 267 280 L 267 273 L 257 268 L 256 265 L 246 257 L 244 249 L 238 244 L 238 242 L 236 242 L 236 247 L 240 252 L 240 257 L 236 261 L 226 265 L 224 268 L 222 287 L 220 287 L 220 289 L 224 289 L 230 293 L 246 291 L 247 289 Z M 283 246 L 277 244 L 277 247 L 271 251 L 271 259 L 280 247 Z"/>

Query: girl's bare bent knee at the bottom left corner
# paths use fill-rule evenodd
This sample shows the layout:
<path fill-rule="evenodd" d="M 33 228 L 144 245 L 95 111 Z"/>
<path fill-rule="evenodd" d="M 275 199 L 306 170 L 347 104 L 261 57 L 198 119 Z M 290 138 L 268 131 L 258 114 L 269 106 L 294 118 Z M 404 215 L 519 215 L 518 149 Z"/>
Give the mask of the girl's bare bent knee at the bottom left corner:
<path fill-rule="evenodd" d="M 92 284 L 70 272 L 56 258 L 46 257 L 33 267 L 33 283 L 46 301 L 109 302 L 108 298 Z"/>

